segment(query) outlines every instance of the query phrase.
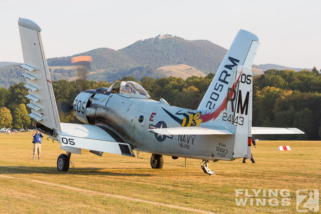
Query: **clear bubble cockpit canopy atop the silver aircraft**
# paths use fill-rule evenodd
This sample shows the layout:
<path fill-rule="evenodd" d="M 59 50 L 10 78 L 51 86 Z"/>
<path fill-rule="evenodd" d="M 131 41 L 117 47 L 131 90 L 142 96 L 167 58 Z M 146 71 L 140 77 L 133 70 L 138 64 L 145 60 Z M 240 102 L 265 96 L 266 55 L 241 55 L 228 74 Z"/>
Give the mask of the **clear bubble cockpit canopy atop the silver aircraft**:
<path fill-rule="evenodd" d="M 116 81 L 107 89 L 107 91 L 113 94 L 123 95 L 125 97 L 137 97 L 144 99 L 151 98 L 140 84 L 133 81 Z"/>

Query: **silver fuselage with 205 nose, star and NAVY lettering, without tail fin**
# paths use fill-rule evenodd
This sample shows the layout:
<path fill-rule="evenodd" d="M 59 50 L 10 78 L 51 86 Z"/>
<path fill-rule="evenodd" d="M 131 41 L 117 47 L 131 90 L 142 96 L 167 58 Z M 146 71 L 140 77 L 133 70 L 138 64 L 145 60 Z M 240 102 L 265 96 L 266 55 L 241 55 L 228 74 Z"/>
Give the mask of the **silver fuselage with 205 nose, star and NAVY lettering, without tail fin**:
<path fill-rule="evenodd" d="M 104 126 L 117 133 L 134 150 L 204 160 L 233 159 L 234 135 L 161 135 L 147 131 L 197 126 L 202 122 L 202 111 L 100 88 L 80 93 L 74 101 L 74 112 L 85 124 Z"/>

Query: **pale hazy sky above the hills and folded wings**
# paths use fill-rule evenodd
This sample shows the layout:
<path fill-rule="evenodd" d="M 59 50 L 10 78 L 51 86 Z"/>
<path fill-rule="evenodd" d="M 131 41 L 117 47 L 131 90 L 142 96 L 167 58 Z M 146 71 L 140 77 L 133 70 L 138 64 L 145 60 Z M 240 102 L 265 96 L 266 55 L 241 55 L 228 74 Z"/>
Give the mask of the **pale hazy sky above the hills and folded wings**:
<path fill-rule="evenodd" d="M 254 64 L 321 68 L 321 1 L 0 0 L 0 61 L 23 62 L 18 19 L 39 25 L 47 58 L 115 50 L 172 34 L 226 49 L 239 29 L 255 33 Z"/>

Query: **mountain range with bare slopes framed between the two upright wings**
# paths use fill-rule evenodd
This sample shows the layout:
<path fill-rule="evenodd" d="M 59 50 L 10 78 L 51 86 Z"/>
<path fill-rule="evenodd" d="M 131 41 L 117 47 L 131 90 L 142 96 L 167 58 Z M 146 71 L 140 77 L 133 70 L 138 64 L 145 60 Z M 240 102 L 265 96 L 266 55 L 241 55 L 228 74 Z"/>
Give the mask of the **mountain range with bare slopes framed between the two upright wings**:
<path fill-rule="evenodd" d="M 91 56 L 90 72 L 80 76 L 88 80 L 115 81 L 123 76 L 134 76 L 141 79 L 144 76 L 153 78 L 165 77 L 162 66 L 184 64 L 191 66 L 193 71 L 199 70 L 200 75 L 216 72 L 227 50 L 207 40 L 186 40 L 180 37 L 159 37 L 139 40 L 120 50 L 98 48 L 81 54 L 66 57 L 49 58 L 48 66 L 52 72 L 52 79 L 74 80 L 77 69 L 72 67 L 71 58 L 75 56 Z M 62 67 L 63 66 L 63 67 Z M 170 69 L 169 69 L 170 70 Z M 169 71 L 168 70 L 168 71 Z M 179 75 L 180 72 L 173 72 Z M 175 74 L 174 74 L 175 73 Z M 185 77 L 186 71 L 182 73 Z"/>

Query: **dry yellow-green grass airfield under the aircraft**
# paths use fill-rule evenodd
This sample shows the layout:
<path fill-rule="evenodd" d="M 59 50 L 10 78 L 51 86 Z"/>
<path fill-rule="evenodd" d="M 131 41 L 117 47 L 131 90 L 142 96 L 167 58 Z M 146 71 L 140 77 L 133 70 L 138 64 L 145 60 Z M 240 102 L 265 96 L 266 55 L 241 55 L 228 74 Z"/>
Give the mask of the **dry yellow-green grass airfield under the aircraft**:
<path fill-rule="evenodd" d="M 187 159 L 181 167 L 177 165 L 184 165 L 185 158 L 165 156 L 163 169 L 152 169 L 148 153 L 143 159 L 107 153 L 99 157 L 88 150 L 71 156 L 74 168 L 58 172 L 57 157 L 64 153 L 60 144 L 44 138 L 42 159 L 32 160 L 31 141 L 31 133 L 0 133 L 1 213 L 292 213 L 297 190 L 321 191 L 320 141 L 257 141 L 257 148 L 252 147 L 256 164 L 242 164 L 241 159 L 210 162 L 215 176 L 203 173 L 200 160 Z M 277 151 L 279 146 L 292 150 Z M 266 206 L 255 201 L 238 206 L 236 189 L 249 194 L 252 189 L 288 189 L 291 204 L 282 206 L 278 193 L 266 197 Z M 264 198 L 262 192 L 257 198 Z M 271 198 L 279 205 L 269 205 Z"/>

